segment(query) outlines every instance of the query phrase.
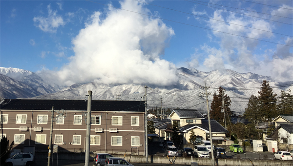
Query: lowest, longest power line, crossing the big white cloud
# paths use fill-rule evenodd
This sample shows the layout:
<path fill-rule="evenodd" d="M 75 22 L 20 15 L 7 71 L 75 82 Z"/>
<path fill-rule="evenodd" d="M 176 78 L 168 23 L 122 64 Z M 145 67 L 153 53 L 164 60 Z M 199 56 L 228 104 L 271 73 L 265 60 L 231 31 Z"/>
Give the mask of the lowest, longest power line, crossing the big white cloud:
<path fill-rule="evenodd" d="M 126 10 L 126 9 L 123 9 L 123 8 L 119 8 L 119 7 L 115 7 L 115 6 L 112 6 L 112 5 L 107 5 L 107 4 L 103 4 L 103 3 L 99 3 L 99 2 L 95 2 L 95 1 L 90 1 L 90 0 L 86 0 L 86 1 L 93 2 L 93 3 L 97 3 L 97 4 L 101 4 L 101 5 L 105 5 L 105 6 L 109 6 L 109 7 L 113 7 L 113 8 L 117 8 L 117 9 L 121 9 L 121 10 L 125 10 L 125 11 L 132 12 L 132 13 L 137 13 L 137 14 L 140 14 L 140 15 L 148 16 L 148 17 L 153 17 L 153 18 L 157 18 L 157 19 L 161 19 L 161 20 L 166 20 L 166 21 L 171 21 L 171 22 L 175 22 L 175 23 L 180 23 L 180 24 L 184 24 L 184 25 L 188 25 L 188 26 L 197 27 L 197 28 L 202 28 L 202 29 L 206 29 L 206 30 L 210 30 L 210 31 L 221 32 L 221 33 L 225 33 L 225 34 L 229 34 L 229 35 L 234 35 L 234 36 L 238 36 L 238 37 L 243 37 L 243 38 L 247 38 L 247 39 L 252 39 L 252 40 L 256 40 L 256 41 L 261 41 L 261 42 L 269 42 L 269 41 L 265 41 L 265 40 L 261 40 L 261 39 L 255 39 L 255 38 L 250 38 L 250 37 L 247 37 L 247 36 L 241 36 L 241 35 L 236 35 L 236 34 L 232 34 L 232 33 L 228 33 L 228 32 L 222 32 L 222 31 L 218 31 L 218 30 L 214 30 L 214 29 L 209 29 L 209 28 L 204 28 L 204 27 L 200 27 L 200 26 L 196 26 L 196 25 L 191 25 L 191 24 L 183 23 L 183 22 L 179 22 L 179 21 L 172 21 L 172 20 L 163 19 L 163 18 L 156 17 L 156 16 L 150 16 L 150 15 L 147 15 L 147 14 L 143 14 L 143 13 L 139 13 L 139 12 L 134 12 L 134 11 L 131 11 L 131 10 Z M 270 42 L 270 43 L 293 47 L 292 45 L 286 45 L 286 44 L 281 44 L 281 43 L 277 43 L 277 42 Z"/>

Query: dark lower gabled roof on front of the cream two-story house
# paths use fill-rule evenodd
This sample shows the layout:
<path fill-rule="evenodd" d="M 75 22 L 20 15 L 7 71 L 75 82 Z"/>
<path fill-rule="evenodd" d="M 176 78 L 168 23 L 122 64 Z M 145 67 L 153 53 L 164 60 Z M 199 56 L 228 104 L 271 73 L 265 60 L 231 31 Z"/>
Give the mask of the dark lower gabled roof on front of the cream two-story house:
<path fill-rule="evenodd" d="M 209 131 L 209 122 L 208 122 L 208 120 L 204 119 L 204 120 L 202 120 L 202 124 L 188 124 L 188 125 L 182 126 L 180 128 L 180 131 L 189 130 L 189 129 L 192 129 L 195 127 Z M 220 125 L 215 120 L 210 120 L 210 129 L 211 129 L 211 132 L 221 132 L 221 133 L 228 133 L 229 132 L 227 129 L 225 129 L 225 127 Z"/>

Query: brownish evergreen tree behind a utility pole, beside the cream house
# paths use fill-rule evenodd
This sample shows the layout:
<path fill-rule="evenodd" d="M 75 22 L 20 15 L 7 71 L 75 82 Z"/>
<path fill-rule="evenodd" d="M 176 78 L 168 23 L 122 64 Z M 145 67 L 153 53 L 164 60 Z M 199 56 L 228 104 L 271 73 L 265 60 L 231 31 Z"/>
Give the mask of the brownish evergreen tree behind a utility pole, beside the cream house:
<path fill-rule="evenodd" d="M 229 107 L 231 105 L 231 100 L 227 94 L 225 95 L 225 91 L 226 90 L 220 86 L 218 89 L 218 95 L 216 94 L 216 92 L 214 93 L 213 100 L 210 104 L 210 118 L 216 121 L 224 120 L 224 112 L 222 112 L 222 98 L 224 100 L 226 120 L 228 120 L 228 116 L 232 115 L 232 111 Z"/>

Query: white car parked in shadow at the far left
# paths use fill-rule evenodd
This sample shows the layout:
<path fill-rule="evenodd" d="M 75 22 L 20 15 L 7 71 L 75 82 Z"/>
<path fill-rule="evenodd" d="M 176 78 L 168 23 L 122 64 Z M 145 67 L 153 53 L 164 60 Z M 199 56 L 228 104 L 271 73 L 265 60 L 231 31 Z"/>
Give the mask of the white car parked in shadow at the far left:
<path fill-rule="evenodd" d="M 34 161 L 32 153 L 16 153 L 12 157 L 5 160 L 5 166 L 32 166 Z"/>

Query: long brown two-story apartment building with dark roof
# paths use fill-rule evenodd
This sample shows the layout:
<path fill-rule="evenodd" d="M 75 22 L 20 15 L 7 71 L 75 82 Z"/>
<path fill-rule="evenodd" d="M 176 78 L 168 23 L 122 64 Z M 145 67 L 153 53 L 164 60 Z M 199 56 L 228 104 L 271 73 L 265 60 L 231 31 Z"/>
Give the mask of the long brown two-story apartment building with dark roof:
<path fill-rule="evenodd" d="M 1 136 L 14 147 L 35 146 L 47 151 L 54 107 L 52 144 L 59 151 L 85 150 L 87 101 L 3 100 L 0 103 Z M 140 101 L 91 102 L 90 151 L 145 153 L 145 105 Z"/>

